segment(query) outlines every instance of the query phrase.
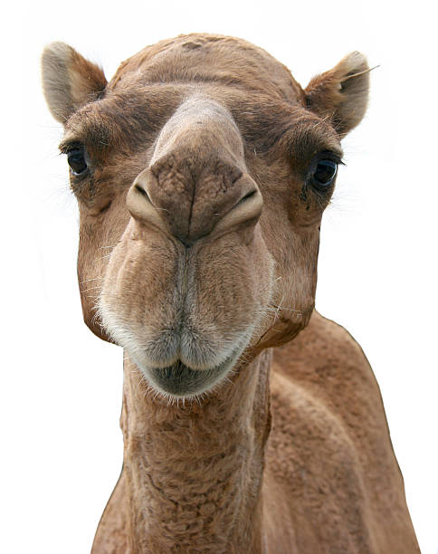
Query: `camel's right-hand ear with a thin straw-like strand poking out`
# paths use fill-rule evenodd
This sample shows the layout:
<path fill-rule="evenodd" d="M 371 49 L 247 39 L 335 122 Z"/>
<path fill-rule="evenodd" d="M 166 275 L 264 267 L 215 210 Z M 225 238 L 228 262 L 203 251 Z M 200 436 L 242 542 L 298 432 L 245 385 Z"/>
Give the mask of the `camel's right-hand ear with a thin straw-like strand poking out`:
<path fill-rule="evenodd" d="M 364 54 L 348 54 L 332 70 L 309 82 L 305 90 L 309 110 L 330 119 L 344 137 L 360 123 L 367 110 L 369 72 Z"/>

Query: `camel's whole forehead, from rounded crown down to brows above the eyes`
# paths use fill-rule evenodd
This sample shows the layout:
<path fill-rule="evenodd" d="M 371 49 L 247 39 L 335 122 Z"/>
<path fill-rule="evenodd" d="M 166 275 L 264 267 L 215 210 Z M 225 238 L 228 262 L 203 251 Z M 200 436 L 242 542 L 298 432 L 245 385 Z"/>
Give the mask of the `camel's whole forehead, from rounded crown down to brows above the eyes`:
<path fill-rule="evenodd" d="M 306 109 L 286 67 L 242 39 L 210 34 L 161 41 L 122 62 L 101 99 L 72 115 L 67 139 L 91 148 L 145 148 L 191 97 L 224 106 L 244 143 L 258 153 L 292 128 L 301 143 L 304 138 L 315 148 L 338 147 L 333 129 Z M 304 128 L 311 132 L 302 133 Z"/>

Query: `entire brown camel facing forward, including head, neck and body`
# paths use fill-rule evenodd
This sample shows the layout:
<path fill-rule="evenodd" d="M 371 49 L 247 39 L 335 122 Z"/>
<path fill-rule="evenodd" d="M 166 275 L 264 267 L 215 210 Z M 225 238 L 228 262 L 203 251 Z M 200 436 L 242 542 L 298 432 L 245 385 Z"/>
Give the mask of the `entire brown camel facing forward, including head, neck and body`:
<path fill-rule="evenodd" d="M 178 36 L 43 90 L 80 212 L 85 323 L 124 349 L 124 463 L 93 554 L 419 552 L 376 379 L 315 310 L 350 53 L 303 89 L 251 43 Z"/>

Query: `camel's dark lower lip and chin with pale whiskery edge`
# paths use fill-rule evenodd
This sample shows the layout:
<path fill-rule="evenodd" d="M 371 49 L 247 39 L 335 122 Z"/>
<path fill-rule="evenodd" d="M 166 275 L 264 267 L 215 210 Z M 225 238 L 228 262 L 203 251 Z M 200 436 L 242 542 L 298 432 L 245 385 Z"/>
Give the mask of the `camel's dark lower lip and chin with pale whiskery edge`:
<path fill-rule="evenodd" d="M 151 386 L 165 396 L 190 398 L 210 391 L 224 380 L 241 354 L 237 349 L 222 363 L 207 369 L 192 369 L 181 360 L 167 368 L 142 368 Z"/>

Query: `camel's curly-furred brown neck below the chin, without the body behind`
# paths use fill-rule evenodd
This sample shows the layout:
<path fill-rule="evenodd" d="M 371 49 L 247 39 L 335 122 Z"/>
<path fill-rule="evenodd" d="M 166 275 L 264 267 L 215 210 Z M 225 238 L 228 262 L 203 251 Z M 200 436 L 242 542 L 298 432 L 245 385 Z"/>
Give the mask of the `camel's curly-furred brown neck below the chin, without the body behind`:
<path fill-rule="evenodd" d="M 124 470 L 130 552 L 263 552 L 270 430 L 264 351 L 204 399 L 170 404 L 125 361 Z"/>

